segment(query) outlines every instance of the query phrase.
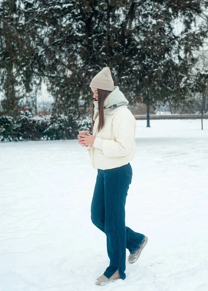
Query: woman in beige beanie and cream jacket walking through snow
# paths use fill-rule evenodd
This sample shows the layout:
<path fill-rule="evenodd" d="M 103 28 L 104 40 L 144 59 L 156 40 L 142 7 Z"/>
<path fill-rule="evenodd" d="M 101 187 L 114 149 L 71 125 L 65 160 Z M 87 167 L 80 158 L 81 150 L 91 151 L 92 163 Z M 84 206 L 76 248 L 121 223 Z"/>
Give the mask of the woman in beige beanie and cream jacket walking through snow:
<path fill-rule="evenodd" d="M 91 204 L 92 223 L 107 237 L 110 265 L 96 280 L 105 285 L 125 279 L 126 248 L 129 263 L 140 256 L 148 238 L 125 226 L 125 203 L 132 182 L 129 162 L 135 156 L 136 121 L 127 108 L 128 101 L 114 87 L 111 72 L 103 68 L 90 83 L 93 93 L 93 135 L 78 135 L 79 144 L 88 146 L 92 166 L 98 169 Z"/>

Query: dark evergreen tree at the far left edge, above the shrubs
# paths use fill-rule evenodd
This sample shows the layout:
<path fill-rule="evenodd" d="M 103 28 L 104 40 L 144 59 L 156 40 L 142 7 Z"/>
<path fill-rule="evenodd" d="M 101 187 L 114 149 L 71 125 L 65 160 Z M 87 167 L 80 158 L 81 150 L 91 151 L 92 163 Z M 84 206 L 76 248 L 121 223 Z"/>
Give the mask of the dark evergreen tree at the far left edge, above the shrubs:
<path fill-rule="evenodd" d="M 30 1 L 23 2 L 31 5 Z M 33 23 L 24 13 L 23 2 L 0 3 L 0 90 L 4 94 L 1 105 L 3 112 L 11 115 L 18 113 L 19 100 L 31 92 L 36 82 Z"/>

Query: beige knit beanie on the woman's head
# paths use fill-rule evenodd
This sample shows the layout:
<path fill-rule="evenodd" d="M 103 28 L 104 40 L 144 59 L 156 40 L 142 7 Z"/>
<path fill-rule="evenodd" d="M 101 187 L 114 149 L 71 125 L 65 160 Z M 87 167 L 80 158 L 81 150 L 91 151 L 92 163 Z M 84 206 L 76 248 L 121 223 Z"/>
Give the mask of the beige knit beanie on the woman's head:
<path fill-rule="evenodd" d="M 113 91 L 115 87 L 109 67 L 104 67 L 103 70 L 92 79 L 89 87 Z"/>

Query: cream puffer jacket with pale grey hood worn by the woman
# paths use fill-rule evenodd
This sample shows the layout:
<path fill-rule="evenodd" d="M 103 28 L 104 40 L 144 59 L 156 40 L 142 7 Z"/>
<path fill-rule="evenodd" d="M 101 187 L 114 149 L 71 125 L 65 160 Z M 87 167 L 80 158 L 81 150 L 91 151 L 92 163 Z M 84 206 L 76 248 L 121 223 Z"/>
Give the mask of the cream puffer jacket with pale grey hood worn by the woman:
<path fill-rule="evenodd" d="M 113 169 L 131 162 L 135 156 L 136 121 L 129 104 L 117 86 L 104 102 L 104 128 L 97 132 L 98 102 L 94 102 L 94 145 L 88 146 L 95 169 Z"/>

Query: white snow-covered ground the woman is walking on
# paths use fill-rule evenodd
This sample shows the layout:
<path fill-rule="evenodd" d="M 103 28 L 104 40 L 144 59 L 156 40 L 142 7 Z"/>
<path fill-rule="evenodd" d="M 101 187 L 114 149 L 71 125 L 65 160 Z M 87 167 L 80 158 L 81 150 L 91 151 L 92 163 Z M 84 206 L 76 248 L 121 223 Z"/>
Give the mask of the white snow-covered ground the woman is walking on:
<path fill-rule="evenodd" d="M 96 170 L 76 140 L 0 143 L 0 291 L 207 291 L 208 120 L 137 121 L 126 225 L 149 237 L 126 279 L 90 221 Z M 127 252 L 128 255 L 128 252 Z"/>

